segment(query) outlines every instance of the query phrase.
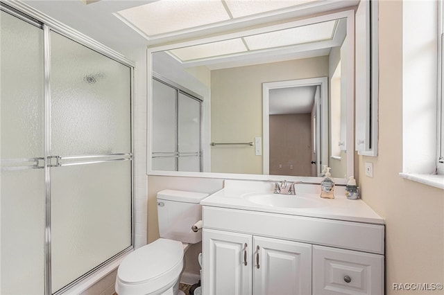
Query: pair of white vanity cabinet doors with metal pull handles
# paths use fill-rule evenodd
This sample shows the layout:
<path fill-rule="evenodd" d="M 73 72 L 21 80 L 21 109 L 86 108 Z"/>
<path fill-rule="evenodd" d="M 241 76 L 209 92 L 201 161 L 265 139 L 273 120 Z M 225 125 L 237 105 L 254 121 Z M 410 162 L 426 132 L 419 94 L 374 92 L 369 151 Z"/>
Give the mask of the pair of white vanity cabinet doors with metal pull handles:
<path fill-rule="evenodd" d="M 203 241 L 203 294 L 311 294 L 311 244 L 211 229 Z"/>

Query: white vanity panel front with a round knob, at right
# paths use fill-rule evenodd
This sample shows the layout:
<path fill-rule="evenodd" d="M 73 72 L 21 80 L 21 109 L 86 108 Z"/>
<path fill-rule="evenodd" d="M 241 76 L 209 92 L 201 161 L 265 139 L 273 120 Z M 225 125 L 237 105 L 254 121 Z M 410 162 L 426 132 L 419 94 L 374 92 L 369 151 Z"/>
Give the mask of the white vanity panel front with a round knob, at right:
<path fill-rule="evenodd" d="M 313 246 L 313 294 L 384 294 L 384 256 Z"/>

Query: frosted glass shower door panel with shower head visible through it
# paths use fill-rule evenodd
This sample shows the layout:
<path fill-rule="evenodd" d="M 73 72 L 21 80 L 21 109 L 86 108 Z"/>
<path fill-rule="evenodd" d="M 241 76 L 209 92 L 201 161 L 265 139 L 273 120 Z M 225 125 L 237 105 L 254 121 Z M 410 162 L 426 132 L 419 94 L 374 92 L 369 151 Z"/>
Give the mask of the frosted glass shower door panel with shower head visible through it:
<path fill-rule="evenodd" d="M 130 68 L 51 32 L 53 292 L 132 244 Z"/>

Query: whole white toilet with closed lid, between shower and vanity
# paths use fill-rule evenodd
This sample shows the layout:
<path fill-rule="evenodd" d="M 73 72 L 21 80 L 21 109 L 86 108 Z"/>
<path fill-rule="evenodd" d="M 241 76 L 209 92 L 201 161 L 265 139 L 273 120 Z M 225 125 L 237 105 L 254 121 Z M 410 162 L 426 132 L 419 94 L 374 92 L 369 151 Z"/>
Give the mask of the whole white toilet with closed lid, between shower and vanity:
<path fill-rule="evenodd" d="M 117 270 L 117 294 L 179 294 L 184 252 L 202 240 L 202 232 L 191 231 L 191 226 L 202 219 L 199 202 L 207 196 L 182 190 L 157 193 L 160 239 L 123 258 Z"/>

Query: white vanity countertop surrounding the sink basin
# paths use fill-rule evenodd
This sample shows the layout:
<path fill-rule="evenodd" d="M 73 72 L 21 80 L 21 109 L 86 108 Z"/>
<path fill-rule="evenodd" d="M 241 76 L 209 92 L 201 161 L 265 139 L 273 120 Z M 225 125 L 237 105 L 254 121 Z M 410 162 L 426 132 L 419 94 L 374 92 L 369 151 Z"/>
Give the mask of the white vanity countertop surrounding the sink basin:
<path fill-rule="evenodd" d="M 273 193 L 273 184 L 264 181 L 225 180 L 223 189 L 203 199 L 200 204 L 203 206 L 384 224 L 384 219 L 361 199 L 347 199 L 343 186 L 336 186 L 334 199 L 323 199 L 320 197 L 321 188 L 319 185 L 297 184 L 296 195 L 291 197 L 316 199 L 316 202 L 322 203 L 322 206 L 312 208 L 283 208 L 257 204 L 242 197 L 247 193 Z"/>

